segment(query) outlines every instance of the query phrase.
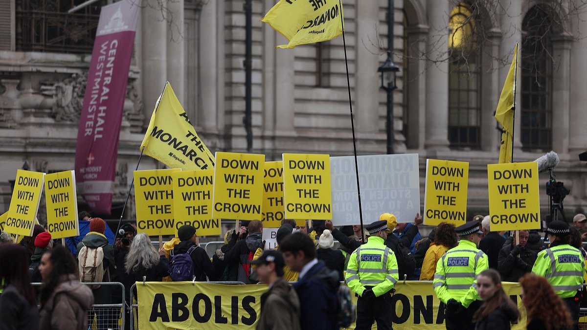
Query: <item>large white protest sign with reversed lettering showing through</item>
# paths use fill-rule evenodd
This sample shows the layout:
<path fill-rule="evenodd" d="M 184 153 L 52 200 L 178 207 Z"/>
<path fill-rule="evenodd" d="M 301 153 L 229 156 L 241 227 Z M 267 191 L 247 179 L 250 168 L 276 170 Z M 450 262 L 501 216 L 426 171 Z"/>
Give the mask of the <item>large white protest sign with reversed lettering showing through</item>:
<path fill-rule="evenodd" d="M 383 154 L 357 157 L 363 224 L 379 220 L 382 213 L 410 223 L 420 213 L 418 154 Z M 355 157 L 330 157 L 332 223 L 359 224 L 359 197 Z"/>

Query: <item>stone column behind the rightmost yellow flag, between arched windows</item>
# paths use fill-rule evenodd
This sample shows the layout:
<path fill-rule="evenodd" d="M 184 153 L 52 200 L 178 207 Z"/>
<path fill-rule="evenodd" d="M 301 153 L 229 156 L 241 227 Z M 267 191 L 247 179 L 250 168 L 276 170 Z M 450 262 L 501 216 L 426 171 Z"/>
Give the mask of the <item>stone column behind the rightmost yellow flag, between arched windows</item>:
<path fill-rule="evenodd" d="M 515 122 L 514 122 L 514 161 L 515 154 L 520 151 L 522 143 L 520 140 L 521 130 L 520 123 L 522 122 L 522 103 L 521 91 L 522 91 L 522 66 L 521 66 L 521 54 L 522 54 L 522 1 L 511 1 L 511 0 L 500 0 L 501 8 L 504 8 L 504 12 L 500 13 L 500 25 L 501 25 L 501 45 L 500 45 L 500 59 L 505 61 L 505 65 L 500 67 L 500 78 L 498 81 L 499 90 L 504 87 L 505 78 L 508 76 L 510 71 L 510 63 L 514 56 L 515 43 L 519 42 L 518 45 L 518 79 L 517 79 L 517 91 L 515 104 Z M 497 103 L 496 103 L 497 105 Z M 495 119 L 494 119 L 495 120 Z"/>

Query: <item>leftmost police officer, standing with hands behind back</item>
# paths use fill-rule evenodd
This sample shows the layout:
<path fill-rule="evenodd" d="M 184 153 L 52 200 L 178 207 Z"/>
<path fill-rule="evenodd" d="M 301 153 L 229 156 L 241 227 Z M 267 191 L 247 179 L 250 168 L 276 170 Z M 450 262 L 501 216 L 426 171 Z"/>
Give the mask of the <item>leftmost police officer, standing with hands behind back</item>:
<path fill-rule="evenodd" d="M 345 278 L 348 287 L 359 296 L 355 329 L 371 329 L 374 321 L 377 330 L 392 329 L 389 292 L 399 272 L 395 254 L 385 245 L 387 221 L 376 221 L 365 228 L 369 240 L 350 255 Z"/>

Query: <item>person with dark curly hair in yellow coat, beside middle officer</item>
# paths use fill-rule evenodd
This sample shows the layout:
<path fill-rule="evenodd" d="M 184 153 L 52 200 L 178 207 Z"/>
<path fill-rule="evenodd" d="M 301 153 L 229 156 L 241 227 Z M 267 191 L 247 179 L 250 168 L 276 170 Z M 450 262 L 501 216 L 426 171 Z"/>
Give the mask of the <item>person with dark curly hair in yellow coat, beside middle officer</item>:
<path fill-rule="evenodd" d="M 457 246 L 458 237 L 454 232 L 454 224 L 440 223 L 436 227 L 434 243 L 430 244 L 420 273 L 420 281 L 432 281 L 436 273 L 436 263 L 446 251 Z"/>

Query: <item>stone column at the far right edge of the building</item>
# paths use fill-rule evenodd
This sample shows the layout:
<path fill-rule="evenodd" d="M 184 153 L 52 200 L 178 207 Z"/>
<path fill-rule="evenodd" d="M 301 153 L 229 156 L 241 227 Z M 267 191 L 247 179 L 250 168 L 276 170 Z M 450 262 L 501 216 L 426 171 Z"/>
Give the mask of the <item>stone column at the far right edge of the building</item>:
<path fill-rule="evenodd" d="M 587 31 L 587 13 L 581 12 L 578 18 L 573 19 L 576 28 L 574 31 Z M 579 36 L 581 37 L 581 36 Z M 587 86 L 587 75 L 582 69 L 587 65 L 587 39 L 579 38 L 573 42 L 571 47 L 571 68 L 577 74 L 569 75 L 569 92 L 571 94 L 571 109 L 569 110 L 569 153 L 572 159 L 576 159 L 576 155 L 587 150 L 587 93 L 585 93 L 585 86 Z M 584 69 L 583 69 L 584 70 Z M 556 126 L 555 126 L 556 127 Z"/>

